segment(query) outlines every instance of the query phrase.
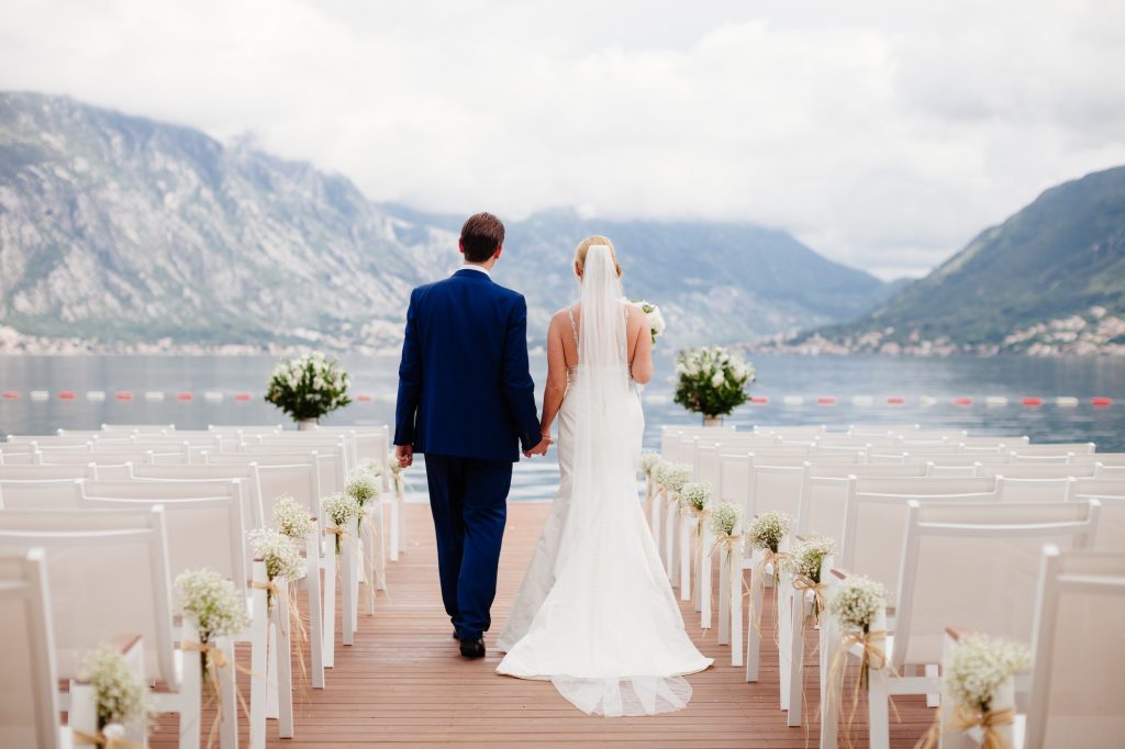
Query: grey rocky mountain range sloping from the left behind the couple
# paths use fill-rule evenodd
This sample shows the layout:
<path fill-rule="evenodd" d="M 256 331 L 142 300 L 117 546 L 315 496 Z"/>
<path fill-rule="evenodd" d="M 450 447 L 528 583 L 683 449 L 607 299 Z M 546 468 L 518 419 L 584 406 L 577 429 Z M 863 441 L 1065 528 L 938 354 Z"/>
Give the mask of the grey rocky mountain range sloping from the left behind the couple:
<path fill-rule="evenodd" d="M 410 289 L 459 263 L 461 220 L 374 202 L 250 141 L 0 93 L 0 325 L 25 336 L 393 346 Z M 528 296 L 533 336 L 575 297 L 572 252 L 594 233 L 613 238 L 628 291 L 660 304 L 680 343 L 846 319 L 885 289 L 746 223 L 552 210 L 507 225 L 496 277 Z"/>

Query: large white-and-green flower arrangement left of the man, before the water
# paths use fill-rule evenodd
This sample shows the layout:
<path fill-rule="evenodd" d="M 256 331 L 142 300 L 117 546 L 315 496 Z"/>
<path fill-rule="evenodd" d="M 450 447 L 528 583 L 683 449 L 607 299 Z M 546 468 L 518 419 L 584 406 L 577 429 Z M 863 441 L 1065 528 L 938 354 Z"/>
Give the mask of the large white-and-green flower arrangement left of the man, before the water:
<path fill-rule="evenodd" d="M 297 422 L 317 419 L 351 403 L 351 377 L 334 359 L 305 354 L 279 363 L 270 376 L 266 400 Z"/>

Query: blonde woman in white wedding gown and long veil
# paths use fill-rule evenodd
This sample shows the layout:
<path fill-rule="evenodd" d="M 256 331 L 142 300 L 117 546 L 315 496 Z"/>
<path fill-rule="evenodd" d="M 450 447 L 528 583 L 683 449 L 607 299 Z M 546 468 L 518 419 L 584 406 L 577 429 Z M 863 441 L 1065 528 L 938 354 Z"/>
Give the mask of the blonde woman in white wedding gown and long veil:
<path fill-rule="evenodd" d="M 578 245 L 582 300 L 555 315 L 541 431 L 559 419 L 561 484 L 497 647 L 496 670 L 544 679 L 586 713 L 645 715 L 691 698 L 711 665 L 684 631 L 637 494 L 645 430 L 634 382 L 652 376 L 639 307 L 613 245 Z"/>

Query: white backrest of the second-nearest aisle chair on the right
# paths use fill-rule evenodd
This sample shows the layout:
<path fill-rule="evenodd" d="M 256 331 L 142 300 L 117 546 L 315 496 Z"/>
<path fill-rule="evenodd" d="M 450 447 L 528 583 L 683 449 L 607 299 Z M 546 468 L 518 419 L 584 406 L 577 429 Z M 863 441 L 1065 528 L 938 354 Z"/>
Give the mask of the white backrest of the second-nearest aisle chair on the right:
<path fill-rule="evenodd" d="M 942 662 L 946 626 L 1029 642 L 1043 544 L 1086 548 L 1099 504 L 911 502 L 891 665 Z"/>

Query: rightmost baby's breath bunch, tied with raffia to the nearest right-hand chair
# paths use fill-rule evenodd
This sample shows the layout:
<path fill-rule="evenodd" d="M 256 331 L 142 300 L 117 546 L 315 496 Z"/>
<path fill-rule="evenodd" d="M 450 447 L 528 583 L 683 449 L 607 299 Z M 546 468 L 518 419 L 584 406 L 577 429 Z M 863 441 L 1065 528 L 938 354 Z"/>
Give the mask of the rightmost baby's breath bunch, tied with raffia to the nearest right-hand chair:
<path fill-rule="evenodd" d="M 1024 644 L 982 634 L 962 638 L 943 677 L 955 703 L 950 728 L 970 732 L 986 747 L 1010 745 L 1014 678 L 1030 667 L 1032 653 Z"/>

